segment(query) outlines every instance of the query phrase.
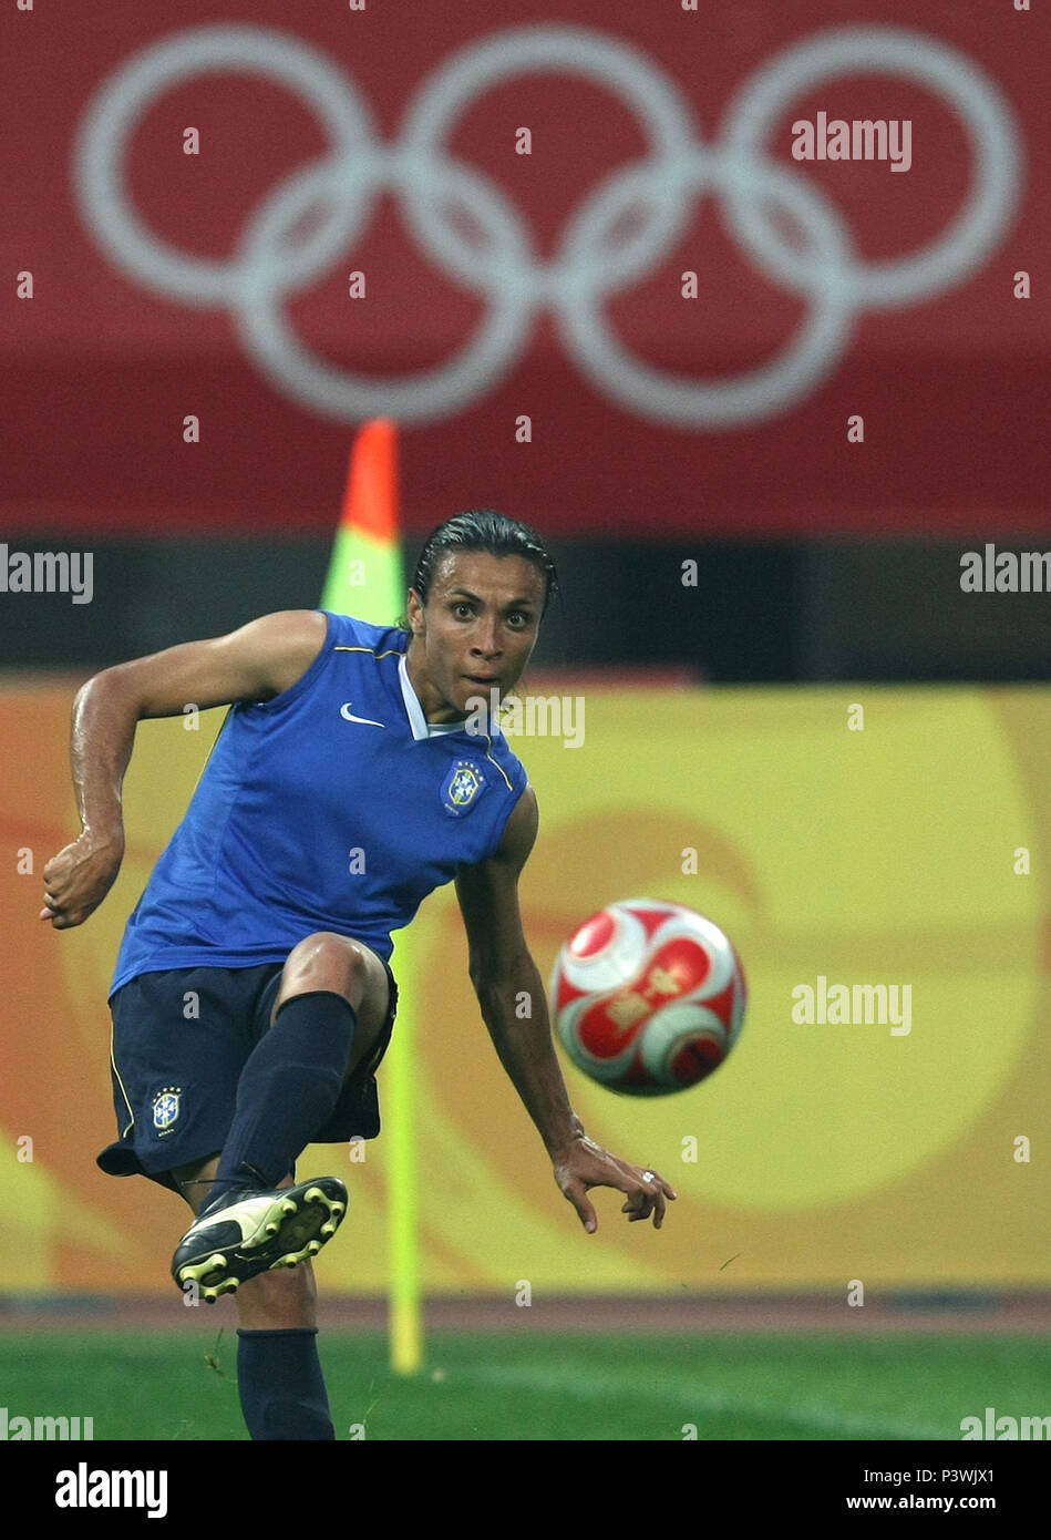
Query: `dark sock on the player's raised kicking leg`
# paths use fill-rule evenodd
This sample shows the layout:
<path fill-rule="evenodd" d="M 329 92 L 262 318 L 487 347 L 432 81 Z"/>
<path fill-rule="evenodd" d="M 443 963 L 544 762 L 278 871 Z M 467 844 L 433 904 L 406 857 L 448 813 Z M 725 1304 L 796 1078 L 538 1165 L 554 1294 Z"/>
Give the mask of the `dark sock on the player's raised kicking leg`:
<path fill-rule="evenodd" d="M 343 995 L 292 995 L 248 1056 L 215 1184 L 275 1187 L 331 1115 L 351 1060 L 357 1013 Z"/>

